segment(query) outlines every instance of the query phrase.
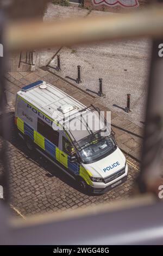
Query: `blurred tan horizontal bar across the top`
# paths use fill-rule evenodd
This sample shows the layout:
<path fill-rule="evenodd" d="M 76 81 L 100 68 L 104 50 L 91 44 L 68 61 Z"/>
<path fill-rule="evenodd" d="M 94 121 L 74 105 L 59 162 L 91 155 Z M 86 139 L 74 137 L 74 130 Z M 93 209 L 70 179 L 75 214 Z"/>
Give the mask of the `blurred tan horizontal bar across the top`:
<path fill-rule="evenodd" d="M 128 14 L 84 17 L 53 22 L 17 22 L 8 25 L 5 41 L 8 50 L 82 44 L 97 40 L 115 40 L 163 36 L 161 4 Z"/>

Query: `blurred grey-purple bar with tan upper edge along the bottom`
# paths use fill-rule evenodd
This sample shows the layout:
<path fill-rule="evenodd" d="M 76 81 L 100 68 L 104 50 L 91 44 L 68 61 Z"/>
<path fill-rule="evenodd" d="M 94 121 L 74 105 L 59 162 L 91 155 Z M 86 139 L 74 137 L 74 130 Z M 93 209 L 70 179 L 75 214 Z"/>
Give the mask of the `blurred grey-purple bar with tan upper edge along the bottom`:
<path fill-rule="evenodd" d="M 3 234 L 2 243 L 162 245 L 162 211 L 162 203 L 154 203 L 151 197 L 141 196 L 121 202 L 88 206 L 86 209 L 36 215 L 26 221 L 17 219 L 15 223 L 12 222 L 14 228 L 8 233 L 7 239 Z"/>

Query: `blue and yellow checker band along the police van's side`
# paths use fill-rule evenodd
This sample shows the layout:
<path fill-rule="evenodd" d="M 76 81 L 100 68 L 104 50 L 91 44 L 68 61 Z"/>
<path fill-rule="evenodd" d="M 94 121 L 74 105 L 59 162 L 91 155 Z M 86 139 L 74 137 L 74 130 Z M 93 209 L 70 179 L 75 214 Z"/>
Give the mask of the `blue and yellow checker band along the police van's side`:
<path fill-rule="evenodd" d="M 17 128 L 24 134 L 29 136 L 41 149 L 45 150 L 51 157 L 64 165 L 73 174 L 81 176 L 88 185 L 92 185 L 90 176 L 92 174 L 83 166 L 76 162 L 70 161 L 70 156 L 61 151 L 52 142 L 43 137 L 39 132 L 35 131 L 21 118 L 17 117 Z"/>

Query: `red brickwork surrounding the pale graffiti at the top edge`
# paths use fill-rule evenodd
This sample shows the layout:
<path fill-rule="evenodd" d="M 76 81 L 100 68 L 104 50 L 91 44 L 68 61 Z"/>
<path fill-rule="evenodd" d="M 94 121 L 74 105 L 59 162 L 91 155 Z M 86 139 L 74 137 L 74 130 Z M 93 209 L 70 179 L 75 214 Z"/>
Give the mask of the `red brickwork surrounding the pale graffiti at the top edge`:
<path fill-rule="evenodd" d="M 135 7 L 132 7 L 132 8 L 128 8 L 128 7 L 124 7 L 122 6 L 121 4 L 116 4 L 115 6 L 113 5 L 112 7 L 109 6 L 108 4 L 106 3 L 101 3 L 101 4 L 97 4 L 99 2 L 101 2 L 100 0 L 83 0 L 84 1 L 84 8 L 91 8 L 93 10 L 103 10 L 103 11 L 111 11 L 111 12 L 114 12 L 114 13 L 121 13 L 121 12 L 126 12 L 127 10 L 131 11 L 132 9 L 135 9 L 135 8 L 142 8 L 144 7 L 145 5 L 149 4 L 149 2 L 151 2 L 150 0 L 138 0 L 138 1 L 133 1 L 133 0 L 120 0 L 119 2 L 121 2 L 121 4 L 123 5 L 125 2 L 127 2 L 126 5 L 135 5 Z M 104 0 L 103 0 L 104 1 Z M 114 3 L 114 1 L 112 0 L 105 0 L 106 2 L 108 3 Z M 116 0 L 115 0 L 115 3 L 116 3 Z M 139 4 L 137 4 L 139 3 Z M 136 6 L 137 4 L 137 6 Z"/>

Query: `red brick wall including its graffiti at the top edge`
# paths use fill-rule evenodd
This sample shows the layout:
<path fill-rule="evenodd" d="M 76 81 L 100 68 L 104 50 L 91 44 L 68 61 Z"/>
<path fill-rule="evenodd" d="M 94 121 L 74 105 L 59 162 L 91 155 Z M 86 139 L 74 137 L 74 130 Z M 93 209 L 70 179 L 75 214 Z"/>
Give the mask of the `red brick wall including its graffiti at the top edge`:
<path fill-rule="evenodd" d="M 108 10 L 112 12 L 125 12 L 131 9 L 140 9 L 150 0 L 83 0 L 84 8 L 93 10 Z"/>

